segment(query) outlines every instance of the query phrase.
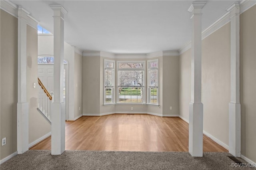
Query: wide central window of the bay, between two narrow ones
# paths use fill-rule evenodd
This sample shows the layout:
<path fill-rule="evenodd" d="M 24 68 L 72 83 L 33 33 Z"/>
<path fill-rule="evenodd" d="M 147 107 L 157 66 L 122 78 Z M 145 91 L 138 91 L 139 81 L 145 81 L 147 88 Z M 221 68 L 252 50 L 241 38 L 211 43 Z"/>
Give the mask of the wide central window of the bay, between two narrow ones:
<path fill-rule="evenodd" d="M 145 61 L 118 61 L 118 103 L 145 103 Z"/>

